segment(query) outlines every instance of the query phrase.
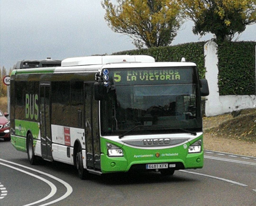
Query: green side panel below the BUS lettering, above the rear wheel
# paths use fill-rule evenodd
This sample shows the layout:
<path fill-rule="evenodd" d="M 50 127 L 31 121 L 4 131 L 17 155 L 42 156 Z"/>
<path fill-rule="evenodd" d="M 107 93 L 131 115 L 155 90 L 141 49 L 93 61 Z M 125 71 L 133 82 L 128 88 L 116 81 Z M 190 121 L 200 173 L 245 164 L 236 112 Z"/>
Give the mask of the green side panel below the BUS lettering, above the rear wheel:
<path fill-rule="evenodd" d="M 15 119 L 16 135 L 26 137 L 27 132 L 30 131 L 33 135 L 33 138 L 38 139 L 39 130 L 40 130 L 40 127 L 38 122 Z"/>

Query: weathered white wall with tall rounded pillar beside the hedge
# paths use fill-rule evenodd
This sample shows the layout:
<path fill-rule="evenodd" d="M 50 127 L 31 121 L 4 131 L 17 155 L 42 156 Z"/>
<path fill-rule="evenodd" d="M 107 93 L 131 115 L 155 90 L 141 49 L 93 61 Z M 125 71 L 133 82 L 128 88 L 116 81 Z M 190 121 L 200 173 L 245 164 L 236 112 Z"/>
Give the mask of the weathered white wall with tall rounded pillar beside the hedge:
<path fill-rule="evenodd" d="M 217 44 L 210 40 L 204 45 L 205 78 L 208 81 L 209 96 L 205 102 L 205 115 L 215 116 L 234 110 L 256 108 L 255 95 L 219 95 Z M 255 47 L 256 52 L 256 47 Z M 256 56 L 255 56 L 256 62 Z M 256 65 L 256 64 L 255 64 Z M 256 73 L 256 66 L 255 66 Z M 255 83 L 256 84 L 256 83 Z M 256 92 L 256 91 L 255 91 Z"/>

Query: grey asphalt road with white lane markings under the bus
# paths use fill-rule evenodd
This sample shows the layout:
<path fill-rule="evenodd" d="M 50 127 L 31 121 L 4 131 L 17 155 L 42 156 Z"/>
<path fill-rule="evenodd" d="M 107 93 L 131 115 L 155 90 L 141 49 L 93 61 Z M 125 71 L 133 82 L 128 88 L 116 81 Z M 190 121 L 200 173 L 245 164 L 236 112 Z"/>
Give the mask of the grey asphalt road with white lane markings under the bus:
<path fill-rule="evenodd" d="M 205 151 L 203 169 L 91 175 L 41 161 L 0 140 L 0 205 L 256 205 L 256 158 Z"/>

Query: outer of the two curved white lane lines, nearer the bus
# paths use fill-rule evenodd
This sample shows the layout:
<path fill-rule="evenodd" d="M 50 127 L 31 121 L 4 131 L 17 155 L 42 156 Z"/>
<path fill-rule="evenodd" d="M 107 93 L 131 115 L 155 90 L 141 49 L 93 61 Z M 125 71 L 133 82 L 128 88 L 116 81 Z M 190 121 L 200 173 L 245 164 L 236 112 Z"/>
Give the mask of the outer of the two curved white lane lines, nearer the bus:
<path fill-rule="evenodd" d="M 63 194 L 60 198 L 56 199 L 56 200 L 53 200 L 51 202 L 48 202 L 48 203 L 45 203 L 45 204 L 42 204 L 42 205 L 39 205 L 39 206 L 44 206 L 44 205 L 49 205 L 49 204 L 52 204 L 52 203 L 55 203 L 55 202 L 58 202 L 60 200 L 63 200 L 65 199 L 66 197 L 68 197 L 72 192 L 73 192 L 73 188 L 65 181 L 63 181 L 62 179 L 58 178 L 58 177 L 55 177 L 53 175 L 50 175 L 48 173 L 45 173 L 45 172 L 42 172 L 42 171 L 39 171 L 37 169 L 33 169 L 31 167 L 27 167 L 27 166 L 24 166 L 24 165 L 21 165 L 21 164 L 17 164 L 15 162 L 10 162 L 10 161 L 7 161 L 5 159 L 1 159 L 0 158 L 0 161 L 3 161 L 3 162 L 7 162 L 7 163 L 10 163 L 10 164 L 13 164 L 13 165 L 17 165 L 17 166 L 20 166 L 20 167 L 24 167 L 26 169 L 30 169 L 32 171 L 35 171 L 35 172 L 38 172 L 38 173 L 41 173 L 43 175 L 46 175 L 52 179 L 55 179 L 56 181 L 60 182 L 61 184 L 63 184 L 66 188 L 67 188 L 67 192 L 65 194 Z"/>

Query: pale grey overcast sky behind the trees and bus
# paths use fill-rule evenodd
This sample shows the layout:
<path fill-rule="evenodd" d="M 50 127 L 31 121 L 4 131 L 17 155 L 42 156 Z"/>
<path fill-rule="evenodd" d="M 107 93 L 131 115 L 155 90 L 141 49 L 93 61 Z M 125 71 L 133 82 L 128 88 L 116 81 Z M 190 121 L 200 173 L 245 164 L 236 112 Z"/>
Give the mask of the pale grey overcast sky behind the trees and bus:
<path fill-rule="evenodd" d="M 23 59 L 63 60 L 74 56 L 111 54 L 135 49 L 132 40 L 111 31 L 101 0 L 1 0 L 0 66 Z M 113 2 L 113 1 L 112 1 Z M 186 21 L 172 45 L 211 39 L 192 32 Z M 247 26 L 239 40 L 256 41 L 256 25 Z"/>

